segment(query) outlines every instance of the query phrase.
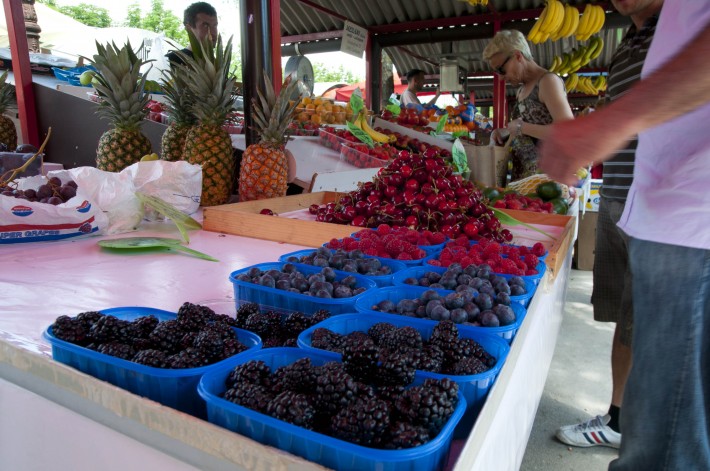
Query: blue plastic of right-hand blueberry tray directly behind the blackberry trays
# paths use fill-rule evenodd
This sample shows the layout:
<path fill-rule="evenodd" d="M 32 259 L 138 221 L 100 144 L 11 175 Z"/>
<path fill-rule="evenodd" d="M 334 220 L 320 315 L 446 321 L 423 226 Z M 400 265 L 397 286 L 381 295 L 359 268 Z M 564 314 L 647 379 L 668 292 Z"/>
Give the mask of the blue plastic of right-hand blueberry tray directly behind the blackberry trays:
<path fill-rule="evenodd" d="M 406 319 L 413 319 L 418 322 L 426 322 L 432 325 L 436 325 L 438 321 L 432 320 L 432 319 L 421 319 L 418 317 L 408 317 L 408 316 L 402 316 L 400 314 L 394 314 L 394 313 L 386 313 L 386 312 L 380 312 L 380 311 L 375 311 L 372 309 L 372 306 L 375 304 L 389 300 L 397 304 L 399 301 L 402 299 L 414 299 L 418 298 L 424 289 L 422 287 L 417 287 L 417 286 L 391 286 L 388 288 L 380 288 L 377 290 L 374 290 L 369 293 L 363 293 L 363 295 L 355 302 L 355 309 L 357 312 L 362 312 L 365 314 L 375 314 L 375 315 L 381 315 L 381 316 L 391 316 L 393 318 L 406 318 Z M 439 291 L 442 294 L 449 293 L 450 291 L 447 290 L 436 290 Z M 474 332 L 486 332 L 489 334 L 495 334 L 503 339 L 505 339 L 508 343 L 512 342 L 513 338 L 515 337 L 515 334 L 518 332 L 518 329 L 520 328 L 520 325 L 523 322 L 523 319 L 525 318 L 526 310 L 523 306 L 520 304 L 514 303 L 510 305 L 510 308 L 513 310 L 515 313 L 515 322 L 509 325 L 504 325 L 500 327 L 482 327 L 482 326 L 476 326 L 476 325 L 470 325 L 470 324 L 457 324 L 457 327 L 459 329 L 459 332 L 461 334 L 468 334 L 474 333 Z"/>

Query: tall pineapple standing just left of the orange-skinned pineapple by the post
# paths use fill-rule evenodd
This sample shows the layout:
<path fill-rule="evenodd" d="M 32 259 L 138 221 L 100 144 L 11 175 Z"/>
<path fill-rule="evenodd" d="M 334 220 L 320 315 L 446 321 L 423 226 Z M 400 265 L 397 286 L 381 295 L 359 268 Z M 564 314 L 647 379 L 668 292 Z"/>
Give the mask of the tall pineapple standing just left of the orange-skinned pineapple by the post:
<path fill-rule="evenodd" d="M 227 114 L 234 108 L 234 78 L 229 77 L 232 39 L 223 45 L 218 36 L 213 45 L 209 36 L 201 43 L 189 29 L 188 36 L 194 57 L 178 54 L 189 71 L 184 77 L 197 124 L 187 133 L 184 159 L 202 167 L 200 204 L 214 206 L 229 200 L 234 183 L 232 140 L 224 128 Z"/>

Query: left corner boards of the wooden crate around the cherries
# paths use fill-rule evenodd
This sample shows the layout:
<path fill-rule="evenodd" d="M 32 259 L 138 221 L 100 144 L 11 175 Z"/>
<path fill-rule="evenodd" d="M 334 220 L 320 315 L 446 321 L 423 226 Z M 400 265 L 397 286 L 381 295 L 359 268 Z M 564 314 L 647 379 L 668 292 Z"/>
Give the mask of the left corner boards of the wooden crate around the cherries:
<path fill-rule="evenodd" d="M 264 208 L 275 213 L 307 209 L 312 204 L 337 201 L 341 193 L 323 191 L 284 196 L 268 200 L 224 204 L 204 209 L 202 228 L 206 231 L 286 242 L 306 247 L 320 247 L 332 238 L 346 237 L 357 230 L 353 226 L 290 219 L 259 214 Z"/>

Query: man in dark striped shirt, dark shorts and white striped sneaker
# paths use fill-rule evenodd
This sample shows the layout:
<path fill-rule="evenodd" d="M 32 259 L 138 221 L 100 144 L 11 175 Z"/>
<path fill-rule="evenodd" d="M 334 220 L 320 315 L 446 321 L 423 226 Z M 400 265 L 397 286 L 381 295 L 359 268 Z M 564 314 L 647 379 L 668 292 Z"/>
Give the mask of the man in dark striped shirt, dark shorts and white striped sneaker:
<path fill-rule="evenodd" d="M 611 64 L 607 100 L 614 102 L 641 78 L 646 53 L 656 30 L 663 0 L 612 0 L 616 10 L 629 16 L 633 24 L 619 44 Z M 604 162 L 603 183 L 594 250 L 594 286 L 592 305 L 594 320 L 616 322 L 611 344 L 611 404 L 604 416 L 596 416 L 576 425 L 557 430 L 557 438 L 567 445 L 596 445 L 619 448 L 621 428 L 619 414 L 624 387 L 631 370 L 631 333 L 633 307 L 631 303 L 631 271 L 629 269 L 628 237 L 617 227 L 634 175 L 636 137 Z"/>

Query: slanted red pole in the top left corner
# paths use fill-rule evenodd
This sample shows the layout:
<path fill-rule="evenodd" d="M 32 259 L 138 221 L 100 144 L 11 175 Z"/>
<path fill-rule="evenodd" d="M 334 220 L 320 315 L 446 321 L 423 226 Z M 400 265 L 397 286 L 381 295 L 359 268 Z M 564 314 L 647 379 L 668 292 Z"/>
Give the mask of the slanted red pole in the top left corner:
<path fill-rule="evenodd" d="M 37 111 L 35 109 L 35 95 L 32 90 L 32 70 L 30 69 L 30 53 L 27 47 L 22 0 L 3 0 L 3 6 L 7 21 L 7 36 L 10 40 L 22 142 L 39 147 Z"/>

